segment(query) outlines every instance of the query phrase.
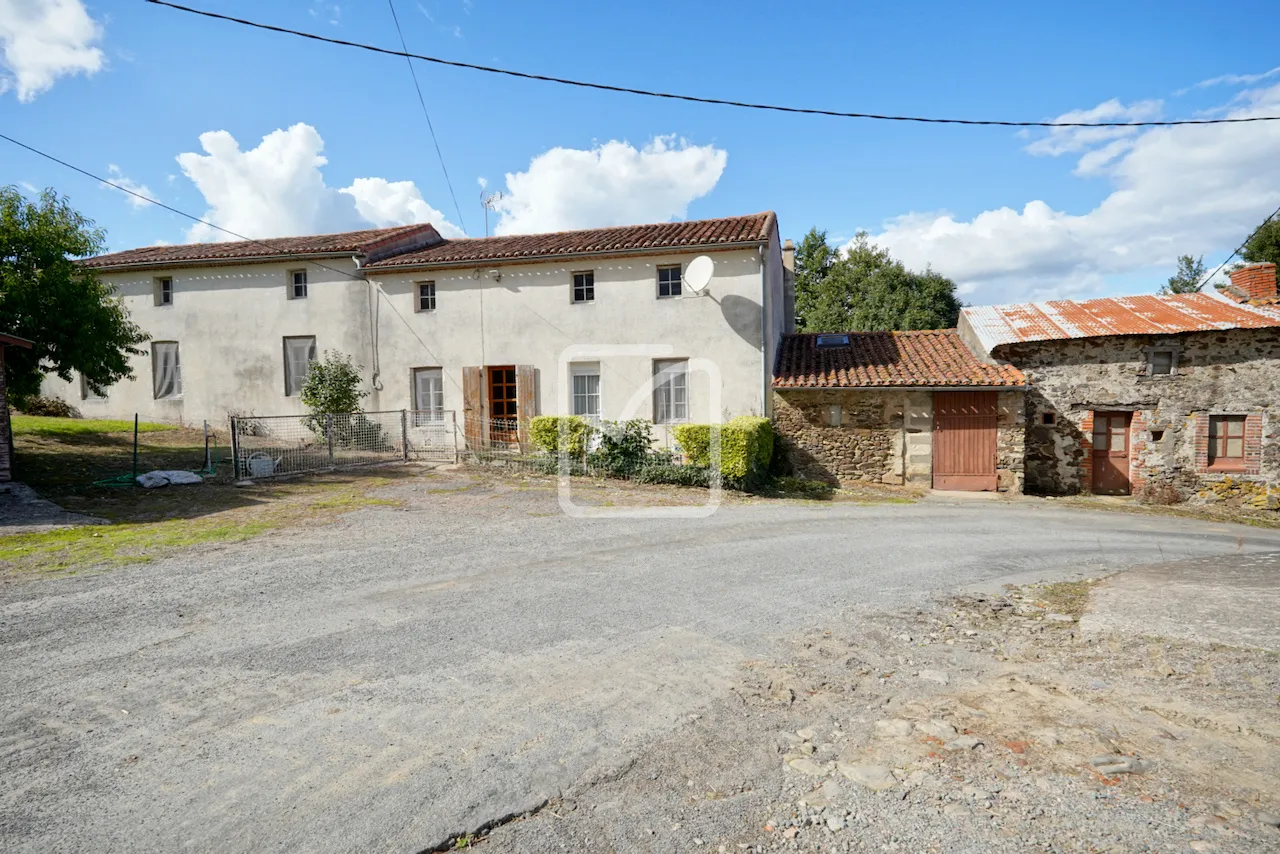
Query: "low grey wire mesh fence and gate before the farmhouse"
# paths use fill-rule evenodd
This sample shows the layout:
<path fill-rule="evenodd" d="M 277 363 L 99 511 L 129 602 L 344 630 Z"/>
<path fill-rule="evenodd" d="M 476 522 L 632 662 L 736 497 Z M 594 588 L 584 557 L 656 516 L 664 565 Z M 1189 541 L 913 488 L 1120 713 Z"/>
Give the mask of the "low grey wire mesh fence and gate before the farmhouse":
<path fill-rule="evenodd" d="M 242 415 L 230 426 L 237 479 L 457 458 L 453 412 L 442 410 Z"/>

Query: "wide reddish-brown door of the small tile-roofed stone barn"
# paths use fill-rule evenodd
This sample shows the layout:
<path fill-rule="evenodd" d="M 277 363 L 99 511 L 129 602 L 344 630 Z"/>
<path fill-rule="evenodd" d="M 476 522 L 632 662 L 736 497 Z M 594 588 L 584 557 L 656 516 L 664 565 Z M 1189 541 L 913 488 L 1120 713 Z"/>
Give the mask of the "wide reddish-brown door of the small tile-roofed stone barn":
<path fill-rule="evenodd" d="M 933 488 L 996 489 L 996 392 L 933 393 Z"/>

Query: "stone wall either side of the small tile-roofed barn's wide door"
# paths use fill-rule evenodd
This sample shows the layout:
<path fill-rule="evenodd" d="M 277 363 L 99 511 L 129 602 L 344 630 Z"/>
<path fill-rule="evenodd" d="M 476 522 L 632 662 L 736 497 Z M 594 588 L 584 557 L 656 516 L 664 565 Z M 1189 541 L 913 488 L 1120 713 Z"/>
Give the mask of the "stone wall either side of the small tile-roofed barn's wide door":
<path fill-rule="evenodd" d="M 1001 492 L 1023 489 L 1023 392 L 997 393 Z M 831 423 L 840 407 L 840 425 Z M 773 429 L 795 474 L 833 485 L 933 483 L 933 392 L 928 389 L 780 389 Z"/>

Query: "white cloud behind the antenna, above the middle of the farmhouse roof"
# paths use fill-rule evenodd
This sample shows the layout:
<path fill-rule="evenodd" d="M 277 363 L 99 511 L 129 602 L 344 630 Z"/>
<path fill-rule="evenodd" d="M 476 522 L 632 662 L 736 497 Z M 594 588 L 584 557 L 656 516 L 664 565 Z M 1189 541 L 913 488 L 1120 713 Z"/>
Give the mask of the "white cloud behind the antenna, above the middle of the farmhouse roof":
<path fill-rule="evenodd" d="M 611 141 L 590 150 L 552 149 L 507 173 L 498 234 L 654 223 L 685 216 L 716 187 L 728 155 L 655 137 L 643 149 Z"/>

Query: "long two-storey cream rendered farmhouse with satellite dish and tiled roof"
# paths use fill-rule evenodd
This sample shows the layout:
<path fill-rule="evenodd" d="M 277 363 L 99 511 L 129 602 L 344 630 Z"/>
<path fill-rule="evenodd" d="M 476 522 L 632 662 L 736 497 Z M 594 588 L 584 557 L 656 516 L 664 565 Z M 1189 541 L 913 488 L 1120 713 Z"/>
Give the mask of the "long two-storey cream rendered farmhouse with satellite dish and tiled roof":
<path fill-rule="evenodd" d="M 707 255 L 701 292 L 685 282 Z M 791 324 L 773 213 L 443 239 L 431 225 L 146 247 L 84 261 L 151 335 L 136 379 L 86 415 L 198 423 L 292 415 L 311 360 L 364 366 L 367 410 L 458 414 L 508 433 L 538 414 L 659 425 L 767 415 Z M 714 380 L 714 382 L 713 382 Z"/>

